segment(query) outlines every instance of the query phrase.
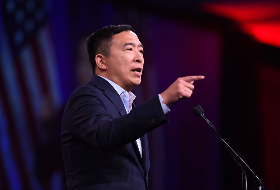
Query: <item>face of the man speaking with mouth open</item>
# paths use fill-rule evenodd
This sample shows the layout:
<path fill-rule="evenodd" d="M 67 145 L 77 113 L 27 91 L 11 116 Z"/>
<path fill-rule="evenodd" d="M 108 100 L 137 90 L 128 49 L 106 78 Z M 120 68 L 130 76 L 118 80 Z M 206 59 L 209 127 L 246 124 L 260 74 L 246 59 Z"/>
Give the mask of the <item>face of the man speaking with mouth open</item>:
<path fill-rule="evenodd" d="M 106 76 L 126 91 L 141 82 L 143 46 L 132 31 L 113 36 L 110 56 L 105 58 Z"/>

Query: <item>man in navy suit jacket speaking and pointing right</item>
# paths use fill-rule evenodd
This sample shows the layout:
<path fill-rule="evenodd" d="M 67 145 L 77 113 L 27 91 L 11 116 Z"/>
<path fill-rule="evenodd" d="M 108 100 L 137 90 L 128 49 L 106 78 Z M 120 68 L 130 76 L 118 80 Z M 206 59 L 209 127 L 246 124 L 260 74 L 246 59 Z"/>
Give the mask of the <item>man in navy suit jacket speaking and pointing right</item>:
<path fill-rule="evenodd" d="M 178 78 L 168 89 L 135 107 L 143 45 L 130 25 L 110 25 L 87 39 L 94 76 L 70 96 L 62 120 L 67 189 L 148 189 L 146 133 L 169 121 L 168 105 L 189 98 L 194 80 Z"/>

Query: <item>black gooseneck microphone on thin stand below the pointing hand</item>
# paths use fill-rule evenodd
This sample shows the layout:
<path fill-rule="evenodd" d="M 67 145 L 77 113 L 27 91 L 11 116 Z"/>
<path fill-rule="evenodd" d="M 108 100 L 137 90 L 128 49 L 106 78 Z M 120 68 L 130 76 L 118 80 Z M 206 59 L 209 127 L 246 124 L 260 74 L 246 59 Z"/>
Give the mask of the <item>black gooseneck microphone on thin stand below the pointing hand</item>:
<path fill-rule="evenodd" d="M 247 190 L 247 178 L 246 178 L 246 173 L 244 168 L 241 166 L 241 164 L 236 160 L 236 157 L 239 158 L 239 160 L 242 161 L 242 163 L 247 167 L 247 169 L 249 169 L 249 171 L 251 172 L 251 174 L 253 174 L 253 179 L 254 182 L 257 184 L 258 188 L 264 188 L 264 185 L 261 183 L 260 179 L 258 178 L 258 176 L 256 176 L 254 174 L 254 172 L 252 171 L 252 169 L 245 163 L 244 160 L 242 160 L 242 158 L 236 154 L 236 152 L 226 143 L 226 141 L 224 141 L 224 139 L 220 136 L 220 134 L 217 132 L 217 130 L 215 129 L 215 127 L 212 125 L 212 123 L 205 117 L 204 115 L 204 111 L 202 109 L 202 107 L 200 105 L 197 105 L 196 107 L 194 107 L 193 109 L 194 114 L 196 114 L 197 116 L 201 116 L 210 126 L 210 128 L 212 129 L 212 131 L 219 137 L 219 139 L 222 141 L 223 145 L 226 147 L 226 150 L 229 152 L 229 154 L 231 155 L 231 157 L 233 158 L 233 160 L 236 162 L 236 164 L 240 167 L 240 169 L 242 170 L 242 189 L 243 190 Z M 235 157 L 236 156 L 236 157 Z"/>

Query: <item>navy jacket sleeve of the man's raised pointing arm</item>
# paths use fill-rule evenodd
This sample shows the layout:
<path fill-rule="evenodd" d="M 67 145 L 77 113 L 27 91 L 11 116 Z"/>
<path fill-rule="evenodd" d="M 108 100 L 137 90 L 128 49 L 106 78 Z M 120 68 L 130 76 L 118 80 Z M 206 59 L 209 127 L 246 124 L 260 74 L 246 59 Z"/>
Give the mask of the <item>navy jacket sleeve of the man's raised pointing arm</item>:
<path fill-rule="evenodd" d="M 114 119 L 98 95 L 74 96 L 70 100 L 67 109 L 72 135 L 101 150 L 114 151 L 169 121 L 158 96 Z"/>

